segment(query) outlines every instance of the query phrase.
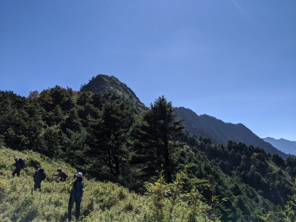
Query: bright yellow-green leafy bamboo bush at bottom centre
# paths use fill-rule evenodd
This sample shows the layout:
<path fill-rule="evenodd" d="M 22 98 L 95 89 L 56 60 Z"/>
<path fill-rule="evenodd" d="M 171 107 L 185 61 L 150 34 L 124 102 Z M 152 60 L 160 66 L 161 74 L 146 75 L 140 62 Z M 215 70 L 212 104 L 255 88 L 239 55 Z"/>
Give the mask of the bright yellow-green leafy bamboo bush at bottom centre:
<path fill-rule="evenodd" d="M 221 216 L 216 210 L 227 198 L 220 200 L 219 196 L 212 196 L 208 204 L 196 188 L 183 191 L 185 177 L 184 172 L 178 173 L 173 183 L 166 184 L 163 171 L 160 171 L 156 182 L 145 184 L 145 222 L 220 222 Z"/>

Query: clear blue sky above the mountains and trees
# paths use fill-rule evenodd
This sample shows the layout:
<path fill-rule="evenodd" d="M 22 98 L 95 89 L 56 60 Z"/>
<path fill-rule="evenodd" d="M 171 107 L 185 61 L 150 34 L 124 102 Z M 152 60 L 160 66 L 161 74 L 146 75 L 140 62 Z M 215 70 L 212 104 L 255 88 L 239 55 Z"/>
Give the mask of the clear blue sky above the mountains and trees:
<path fill-rule="evenodd" d="M 0 0 L 0 90 L 114 75 L 147 106 L 296 141 L 295 0 Z"/>

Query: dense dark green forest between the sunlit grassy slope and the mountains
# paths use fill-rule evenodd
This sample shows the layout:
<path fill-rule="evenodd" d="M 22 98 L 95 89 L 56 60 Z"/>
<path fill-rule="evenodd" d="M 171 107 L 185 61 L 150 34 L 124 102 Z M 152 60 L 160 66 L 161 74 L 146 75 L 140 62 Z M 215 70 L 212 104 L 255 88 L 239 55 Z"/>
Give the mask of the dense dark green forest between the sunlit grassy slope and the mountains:
<path fill-rule="evenodd" d="M 270 221 L 284 221 L 296 159 L 233 141 L 212 144 L 186 132 L 174 111 L 163 96 L 140 110 L 110 91 L 55 86 L 27 98 L 0 91 L 0 145 L 37 151 L 140 194 L 159 180 L 157 170 L 167 184 L 183 172 L 183 188 L 210 205 L 213 196 L 228 198 L 215 209 L 222 221 L 259 221 L 268 213 Z"/>

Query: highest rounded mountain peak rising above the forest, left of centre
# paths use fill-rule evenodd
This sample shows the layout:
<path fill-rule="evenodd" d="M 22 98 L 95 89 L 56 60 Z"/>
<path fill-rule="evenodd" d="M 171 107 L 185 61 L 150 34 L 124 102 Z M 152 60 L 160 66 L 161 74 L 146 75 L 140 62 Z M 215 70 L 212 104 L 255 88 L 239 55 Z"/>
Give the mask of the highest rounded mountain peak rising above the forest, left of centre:
<path fill-rule="evenodd" d="M 80 90 L 90 91 L 93 93 L 110 92 L 111 94 L 121 96 L 125 101 L 136 107 L 138 111 L 147 109 L 147 107 L 136 96 L 134 91 L 113 75 L 109 76 L 99 74 L 96 77 L 92 77 L 87 84 L 81 85 Z"/>

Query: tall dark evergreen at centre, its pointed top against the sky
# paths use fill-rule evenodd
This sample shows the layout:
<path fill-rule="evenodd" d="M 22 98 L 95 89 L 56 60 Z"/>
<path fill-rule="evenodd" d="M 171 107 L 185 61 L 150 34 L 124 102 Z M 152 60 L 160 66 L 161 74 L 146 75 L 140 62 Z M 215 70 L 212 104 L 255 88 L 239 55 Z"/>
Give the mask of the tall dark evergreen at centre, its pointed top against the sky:
<path fill-rule="evenodd" d="M 143 121 L 134 132 L 134 136 L 138 139 L 136 146 L 146 148 L 146 155 L 154 159 L 158 169 L 164 166 L 168 183 L 172 182 L 171 154 L 174 149 L 183 146 L 178 140 L 183 134 L 184 127 L 181 125 L 183 119 L 176 121 L 174 110 L 172 102 L 167 102 L 164 96 L 158 97 L 153 104 L 150 104 L 150 109 L 144 112 Z"/>

